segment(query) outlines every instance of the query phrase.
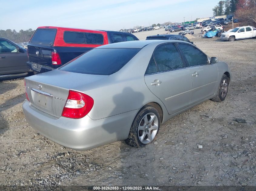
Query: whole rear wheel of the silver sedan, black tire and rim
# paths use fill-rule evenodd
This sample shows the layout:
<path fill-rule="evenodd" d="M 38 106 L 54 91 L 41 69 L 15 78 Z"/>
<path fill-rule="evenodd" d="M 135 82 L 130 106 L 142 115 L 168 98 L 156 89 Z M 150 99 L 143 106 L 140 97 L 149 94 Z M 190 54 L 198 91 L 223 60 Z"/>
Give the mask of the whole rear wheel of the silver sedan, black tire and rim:
<path fill-rule="evenodd" d="M 160 127 L 160 116 L 155 107 L 145 105 L 135 116 L 126 144 L 139 148 L 154 141 Z"/>

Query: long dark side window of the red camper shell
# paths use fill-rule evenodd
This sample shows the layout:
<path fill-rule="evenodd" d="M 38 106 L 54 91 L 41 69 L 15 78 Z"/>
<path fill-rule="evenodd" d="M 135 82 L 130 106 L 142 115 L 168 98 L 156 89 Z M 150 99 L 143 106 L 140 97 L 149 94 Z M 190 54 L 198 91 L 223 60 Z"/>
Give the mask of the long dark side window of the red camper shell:
<path fill-rule="evenodd" d="M 99 33 L 65 31 L 63 39 L 66 43 L 103 44 L 103 35 Z"/>

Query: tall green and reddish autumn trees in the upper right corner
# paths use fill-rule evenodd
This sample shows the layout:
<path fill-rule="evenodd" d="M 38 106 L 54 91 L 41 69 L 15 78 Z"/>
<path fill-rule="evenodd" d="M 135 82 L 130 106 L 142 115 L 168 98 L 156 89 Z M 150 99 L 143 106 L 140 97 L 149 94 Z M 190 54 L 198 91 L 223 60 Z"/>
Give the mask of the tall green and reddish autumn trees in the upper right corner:
<path fill-rule="evenodd" d="M 256 26 L 256 0 L 220 1 L 212 11 L 214 17 L 234 14 L 243 25 Z"/>

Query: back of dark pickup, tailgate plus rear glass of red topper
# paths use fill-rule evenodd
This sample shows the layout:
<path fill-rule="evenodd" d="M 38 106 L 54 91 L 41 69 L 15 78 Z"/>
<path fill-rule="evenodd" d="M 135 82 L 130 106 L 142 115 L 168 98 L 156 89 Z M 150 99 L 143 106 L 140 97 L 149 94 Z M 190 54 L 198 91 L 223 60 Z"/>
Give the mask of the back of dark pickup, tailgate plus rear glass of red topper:
<path fill-rule="evenodd" d="M 57 29 L 37 29 L 35 31 L 28 44 L 29 62 L 40 65 L 52 65 L 52 45 L 56 32 Z"/>

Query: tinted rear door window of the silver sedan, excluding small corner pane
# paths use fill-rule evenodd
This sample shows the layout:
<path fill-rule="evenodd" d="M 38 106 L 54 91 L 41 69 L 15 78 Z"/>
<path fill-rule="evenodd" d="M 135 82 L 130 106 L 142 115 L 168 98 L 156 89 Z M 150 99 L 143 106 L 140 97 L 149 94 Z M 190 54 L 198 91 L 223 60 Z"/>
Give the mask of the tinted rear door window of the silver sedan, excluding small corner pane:
<path fill-rule="evenodd" d="M 183 68 L 181 56 L 175 44 L 158 46 L 153 54 L 158 72 Z"/>

